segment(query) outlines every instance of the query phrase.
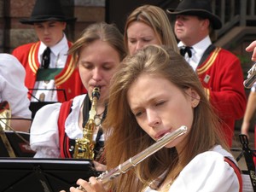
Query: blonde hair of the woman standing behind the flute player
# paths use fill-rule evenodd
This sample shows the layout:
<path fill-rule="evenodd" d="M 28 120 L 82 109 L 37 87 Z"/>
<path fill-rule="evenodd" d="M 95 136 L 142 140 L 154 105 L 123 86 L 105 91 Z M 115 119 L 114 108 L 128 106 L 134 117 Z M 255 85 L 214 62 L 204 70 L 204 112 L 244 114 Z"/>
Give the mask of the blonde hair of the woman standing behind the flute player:
<path fill-rule="evenodd" d="M 150 26 L 154 33 L 159 36 L 161 44 L 168 45 L 179 53 L 170 20 L 163 9 L 154 5 L 143 5 L 132 11 L 125 23 L 124 38 L 126 49 L 128 47 L 127 29 L 133 21 L 140 21 Z"/>

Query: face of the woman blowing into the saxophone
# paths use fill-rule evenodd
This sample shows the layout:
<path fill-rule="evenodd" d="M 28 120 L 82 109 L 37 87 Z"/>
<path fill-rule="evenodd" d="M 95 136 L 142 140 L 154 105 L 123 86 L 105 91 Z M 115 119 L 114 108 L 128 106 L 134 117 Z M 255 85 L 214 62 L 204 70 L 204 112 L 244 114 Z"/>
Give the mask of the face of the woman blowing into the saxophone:
<path fill-rule="evenodd" d="M 96 40 L 79 52 L 79 74 L 85 89 L 101 88 L 100 101 L 108 97 L 109 82 L 119 65 L 119 53 L 108 43 Z"/>

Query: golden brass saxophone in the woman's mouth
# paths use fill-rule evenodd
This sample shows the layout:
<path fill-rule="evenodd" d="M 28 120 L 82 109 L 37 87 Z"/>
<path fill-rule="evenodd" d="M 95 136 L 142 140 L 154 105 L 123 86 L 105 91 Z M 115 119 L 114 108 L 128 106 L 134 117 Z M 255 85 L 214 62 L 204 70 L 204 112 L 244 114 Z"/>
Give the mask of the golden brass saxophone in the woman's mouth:
<path fill-rule="evenodd" d="M 96 104 L 100 98 L 100 88 L 95 87 L 91 94 L 91 108 L 89 112 L 89 119 L 83 128 L 83 137 L 76 139 L 73 158 L 75 159 L 94 159 L 94 145 L 93 133 L 96 129 L 95 116 Z"/>

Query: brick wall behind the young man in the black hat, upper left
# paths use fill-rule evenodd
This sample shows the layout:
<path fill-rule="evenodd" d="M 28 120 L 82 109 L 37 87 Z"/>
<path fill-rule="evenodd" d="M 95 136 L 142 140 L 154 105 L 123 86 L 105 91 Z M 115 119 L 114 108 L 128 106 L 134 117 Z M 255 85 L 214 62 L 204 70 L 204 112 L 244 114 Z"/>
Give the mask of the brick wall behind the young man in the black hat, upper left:
<path fill-rule="evenodd" d="M 38 41 L 33 26 L 20 23 L 28 18 L 36 0 L 0 0 L 0 51 L 10 53 L 20 44 Z M 67 38 L 74 41 L 90 23 L 105 20 L 105 0 L 61 0 L 69 17 L 76 17 L 66 29 Z"/>

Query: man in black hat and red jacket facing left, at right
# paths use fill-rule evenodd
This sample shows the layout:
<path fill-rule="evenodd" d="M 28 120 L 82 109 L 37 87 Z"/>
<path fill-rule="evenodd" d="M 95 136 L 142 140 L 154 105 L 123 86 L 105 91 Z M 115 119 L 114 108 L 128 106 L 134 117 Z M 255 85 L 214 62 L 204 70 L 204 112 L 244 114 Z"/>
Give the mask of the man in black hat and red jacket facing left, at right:
<path fill-rule="evenodd" d="M 176 16 L 174 31 L 180 53 L 201 79 L 231 147 L 235 121 L 242 118 L 247 101 L 240 61 L 210 39 L 210 32 L 220 29 L 222 23 L 212 14 L 210 0 L 183 0 L 167 13 Z"/>

